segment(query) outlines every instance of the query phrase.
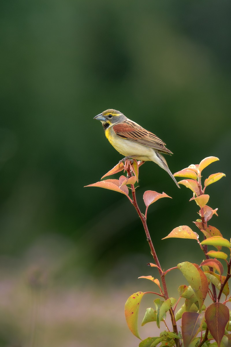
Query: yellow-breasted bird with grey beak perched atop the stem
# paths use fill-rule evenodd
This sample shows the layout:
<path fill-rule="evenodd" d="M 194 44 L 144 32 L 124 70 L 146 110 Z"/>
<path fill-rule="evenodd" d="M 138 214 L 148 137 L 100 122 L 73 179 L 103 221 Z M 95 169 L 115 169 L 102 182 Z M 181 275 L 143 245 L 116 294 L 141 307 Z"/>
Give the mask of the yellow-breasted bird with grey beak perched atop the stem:
<path fill-rule="evenodd" d="M 103 111 L 94 119 L 102 123 L 105 136 L 110 144 L 120 154 L 125 155 L 123 160 L 153 161 L 167 171 L 180 188 L 162 155 L 162 153 L 169 155 L 173 153 L 165 147 L 166 144 L 159 137 L 114 109 Z"/>

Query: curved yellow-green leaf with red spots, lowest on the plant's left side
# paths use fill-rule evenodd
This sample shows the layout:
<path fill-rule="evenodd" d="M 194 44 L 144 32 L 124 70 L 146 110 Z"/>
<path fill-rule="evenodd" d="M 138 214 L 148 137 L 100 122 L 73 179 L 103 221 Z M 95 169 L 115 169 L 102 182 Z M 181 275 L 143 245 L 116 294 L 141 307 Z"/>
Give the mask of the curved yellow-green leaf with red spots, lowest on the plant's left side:
<path fill-rule="evenodd" d="M 140 338 L 138 332 L 138 313 L 140 308 L 140 302 L 144 293 L 142 291 L 138 291 L 137 293 L 132 294 L 126 301 L 125 304 L 125 318 L 128 325 L 128 328 L 131 330 L 133 335 Z"/>

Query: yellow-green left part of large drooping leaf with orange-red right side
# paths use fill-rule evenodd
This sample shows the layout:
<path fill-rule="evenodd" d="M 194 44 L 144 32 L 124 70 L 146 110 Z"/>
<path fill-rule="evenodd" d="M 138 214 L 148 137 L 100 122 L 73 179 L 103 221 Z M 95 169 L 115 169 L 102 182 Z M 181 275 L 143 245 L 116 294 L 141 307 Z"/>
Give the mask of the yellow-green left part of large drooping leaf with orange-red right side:
<path fill-rule="evenodd" d="M 201 307 L 203 305 L 204 299 L 199 271 L 197 270 L 195 265 L 189 262 L 179 263 L 177 267 L 183 273 L 184 277 L 195 291 L 196 297 L 199 302 L 199 307 Z"/>

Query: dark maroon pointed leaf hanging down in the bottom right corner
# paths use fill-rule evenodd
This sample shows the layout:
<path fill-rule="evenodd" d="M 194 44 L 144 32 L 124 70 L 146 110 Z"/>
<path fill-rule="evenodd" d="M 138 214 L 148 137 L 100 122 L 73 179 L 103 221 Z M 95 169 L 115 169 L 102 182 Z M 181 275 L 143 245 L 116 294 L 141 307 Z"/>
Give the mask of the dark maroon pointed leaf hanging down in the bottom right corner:
<path fill-rule="evenodd" d="M 211 304 L 205 310 L 205 320 L 211 335 L 220 347 L 225 326 L 229 321 L 228 307 L 220 302 Z"/>

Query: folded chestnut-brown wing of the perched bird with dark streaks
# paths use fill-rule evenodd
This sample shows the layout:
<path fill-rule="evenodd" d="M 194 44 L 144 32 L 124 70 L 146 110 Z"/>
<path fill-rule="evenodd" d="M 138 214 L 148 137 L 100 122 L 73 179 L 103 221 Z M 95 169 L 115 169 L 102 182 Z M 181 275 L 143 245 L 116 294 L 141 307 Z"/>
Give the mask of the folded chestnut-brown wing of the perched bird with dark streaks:
<path fill-rule="evenodd" d="M 162 153 L 172 154 L 172 152 L 165 147 L 165 143 L 159 137 L 142 128 L 130 119 L 115 124 L 113 130 L 119 137 L 152 147 Z"/>

